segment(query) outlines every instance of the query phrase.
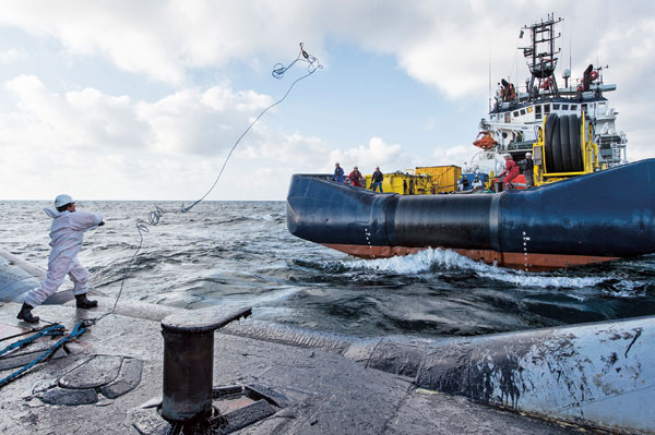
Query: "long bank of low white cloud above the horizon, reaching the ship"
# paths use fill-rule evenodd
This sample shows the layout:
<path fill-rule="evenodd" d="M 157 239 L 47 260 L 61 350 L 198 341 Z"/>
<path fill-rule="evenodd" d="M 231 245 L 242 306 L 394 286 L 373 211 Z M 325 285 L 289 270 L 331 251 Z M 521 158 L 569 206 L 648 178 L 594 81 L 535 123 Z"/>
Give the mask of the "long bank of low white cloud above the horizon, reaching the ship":
<path fill-rule="evenodd" d="M 59 94 L 34 75 L 20 75 L 4 88 L 14 107 L 0 113 L 0 183 L 20 174 L 13 195 L 23 200 L 59 191 L 105 200 L 198 198 L 237 137 L 272 101 L 228 84 L 182 89 L 154 102 L 94 88 Z M 261 120 L 210 198 L 281 200 L 295 172 L 331 172 L 340 157 L 392 165 L 404 158 L 401 152 L 380 137 L 334 150 L 319 137 L 270 130 Z"/>

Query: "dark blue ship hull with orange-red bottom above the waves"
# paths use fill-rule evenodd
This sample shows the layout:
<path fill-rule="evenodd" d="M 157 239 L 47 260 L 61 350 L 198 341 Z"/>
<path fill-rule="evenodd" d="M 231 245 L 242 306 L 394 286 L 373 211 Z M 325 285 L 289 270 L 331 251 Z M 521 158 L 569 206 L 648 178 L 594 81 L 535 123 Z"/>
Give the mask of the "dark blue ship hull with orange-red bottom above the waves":
<path fill-rule="evenodd" d="M 500 266 L 549 269 L 651 254 L 655 159 L 500 194 L 378 194 L 294 176 L 287 227 L 365 258 L 442 247 Z"/>

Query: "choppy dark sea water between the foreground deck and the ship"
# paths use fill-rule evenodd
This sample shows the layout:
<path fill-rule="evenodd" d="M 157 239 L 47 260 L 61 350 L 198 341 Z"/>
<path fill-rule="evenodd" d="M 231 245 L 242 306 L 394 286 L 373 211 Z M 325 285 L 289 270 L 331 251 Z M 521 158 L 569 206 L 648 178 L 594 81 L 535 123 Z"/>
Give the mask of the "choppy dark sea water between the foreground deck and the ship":
<path fill-rule="evenodd" d="M 47 267 L 45 202 L 0 204 L 0 247 Z M 167 210 L 140 243 L 138 219 Z M 81 202 L 106 226 L 85 235 L 91 286 L 122 300 L 200 309 L 358 337 L 472 336 L 655 313 L 655 255 L 527 273 L 444 250 L 364 261 L 290 235 L 284 202 Z M 64 286 L 72 286 L 69 281 Z M 109 310 L 110 307 L 107 307 Z"/>

